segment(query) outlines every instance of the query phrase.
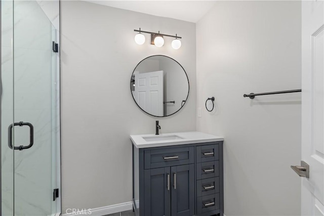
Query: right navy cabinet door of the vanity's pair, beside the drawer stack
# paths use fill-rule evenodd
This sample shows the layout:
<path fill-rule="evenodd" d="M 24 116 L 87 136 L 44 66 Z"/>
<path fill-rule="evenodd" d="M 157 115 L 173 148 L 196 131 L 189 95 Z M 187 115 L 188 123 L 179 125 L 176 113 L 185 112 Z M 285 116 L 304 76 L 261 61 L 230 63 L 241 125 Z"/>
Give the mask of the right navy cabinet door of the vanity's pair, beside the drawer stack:
<path fill-rule="evenodd" d="M 171 167 L 171 215 L 194 215 L 194 164 Z"/>

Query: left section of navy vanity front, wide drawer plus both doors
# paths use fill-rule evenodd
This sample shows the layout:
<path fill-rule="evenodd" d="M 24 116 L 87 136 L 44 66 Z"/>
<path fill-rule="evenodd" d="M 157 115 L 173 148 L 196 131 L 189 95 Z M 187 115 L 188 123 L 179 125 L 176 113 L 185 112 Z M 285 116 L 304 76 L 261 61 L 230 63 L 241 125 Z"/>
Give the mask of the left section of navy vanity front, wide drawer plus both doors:
<path fill-rule="evenodd" d="M 194 169 L 193 146 L 144 149 L 144 215 L 194 215 Z"/>

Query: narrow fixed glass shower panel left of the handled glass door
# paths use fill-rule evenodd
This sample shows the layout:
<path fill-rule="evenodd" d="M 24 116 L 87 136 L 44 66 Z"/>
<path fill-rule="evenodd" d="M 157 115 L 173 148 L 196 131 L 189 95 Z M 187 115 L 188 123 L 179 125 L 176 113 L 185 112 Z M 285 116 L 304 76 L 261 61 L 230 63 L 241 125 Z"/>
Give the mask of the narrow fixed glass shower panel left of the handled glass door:
<path fill-rule="evenodd" d="M 13 3 L 1 1 L 1 215 L 14 212 L 14 151 L 8 126 L 14 122 Z"/>

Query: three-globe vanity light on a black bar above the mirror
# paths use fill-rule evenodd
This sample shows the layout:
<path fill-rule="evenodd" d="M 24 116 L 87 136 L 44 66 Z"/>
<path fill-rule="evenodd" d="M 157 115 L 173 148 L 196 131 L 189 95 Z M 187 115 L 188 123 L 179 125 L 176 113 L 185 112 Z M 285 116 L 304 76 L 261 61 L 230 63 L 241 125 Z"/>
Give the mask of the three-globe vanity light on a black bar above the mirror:
<path fill-rule="evenodd" d="M 139 32 L 135 35 L 135 41 L 136 44 L 142 45 L 145 42 L 145 36 L 142 33 L 151 34 L 151 45 L 155 45 L 156 47 L 162 47 L 164 45 L 164 38 L 163 36 L 167 37 L 175 37 L 175 39 L 172 41 L 171 46 L 173 49 L 178 50 L 181 47 L 181 39 L 182 37 L 179 37 L 177 34 L 169 35 L 169 34 L 161 34 L 159 31 L 158 33 L 150 32 L 150 31 L 142 31 L 141 28 L 139 30 L 134 29 L 134 31 Z"/>

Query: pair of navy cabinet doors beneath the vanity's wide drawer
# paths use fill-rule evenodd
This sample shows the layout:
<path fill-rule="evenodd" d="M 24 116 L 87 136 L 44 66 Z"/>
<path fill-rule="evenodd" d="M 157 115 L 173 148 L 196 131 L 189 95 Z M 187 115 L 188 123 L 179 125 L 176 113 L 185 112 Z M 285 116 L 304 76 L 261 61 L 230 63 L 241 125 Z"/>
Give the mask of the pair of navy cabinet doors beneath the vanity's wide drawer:
<path fill-rule="evenodd" d="M 144 170 L 144 202 L 144 215 L 194 215 L 194 164 Z"/>

